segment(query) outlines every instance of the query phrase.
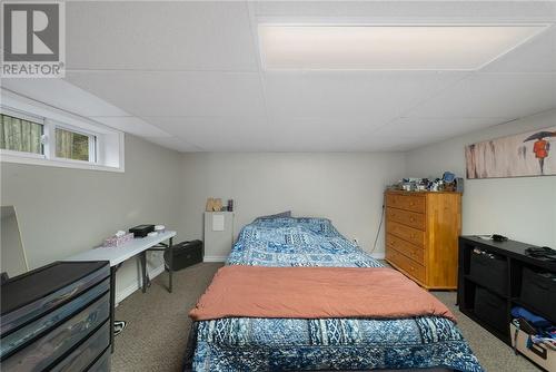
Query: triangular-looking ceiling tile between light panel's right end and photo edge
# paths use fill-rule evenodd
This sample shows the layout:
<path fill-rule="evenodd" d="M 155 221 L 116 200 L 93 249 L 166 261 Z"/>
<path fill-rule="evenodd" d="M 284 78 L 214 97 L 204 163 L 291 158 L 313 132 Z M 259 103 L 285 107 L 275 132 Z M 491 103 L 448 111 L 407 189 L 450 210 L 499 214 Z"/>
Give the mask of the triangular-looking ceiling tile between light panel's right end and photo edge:
<path fill-rule="evenodd" d="M 556 72 L 556 26 L 487 65 L 481 72 Z"/>

